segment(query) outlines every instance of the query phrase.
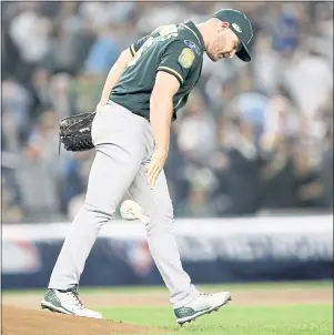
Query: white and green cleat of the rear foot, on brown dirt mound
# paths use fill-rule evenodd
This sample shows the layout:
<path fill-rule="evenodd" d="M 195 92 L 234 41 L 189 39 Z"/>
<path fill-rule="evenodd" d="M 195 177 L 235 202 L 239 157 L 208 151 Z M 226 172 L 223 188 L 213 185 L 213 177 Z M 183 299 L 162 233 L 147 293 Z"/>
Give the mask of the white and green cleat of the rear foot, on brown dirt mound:
<path fill-rule="evenodd" d="M 41 302 L 42 309 L 83 317 L 102 318 L 99 312 L 84 307 L 74 286 L 67 291 L 48 290 Z"/>

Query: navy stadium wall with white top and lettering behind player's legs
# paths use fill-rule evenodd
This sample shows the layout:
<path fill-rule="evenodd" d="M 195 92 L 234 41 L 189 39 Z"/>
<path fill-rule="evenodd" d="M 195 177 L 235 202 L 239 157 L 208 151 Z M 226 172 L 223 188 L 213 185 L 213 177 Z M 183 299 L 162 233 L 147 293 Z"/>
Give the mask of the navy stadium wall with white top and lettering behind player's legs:
<path fill-rule="evenodd" d="M 69 223 L 2 226 L 2 288 L 45 287 Z M 184 268 L 201 283 L 333 278 L 333 215 L 176 220 Z M 162 284 L 144 226 L 107 224 L 81 286 Z"/>

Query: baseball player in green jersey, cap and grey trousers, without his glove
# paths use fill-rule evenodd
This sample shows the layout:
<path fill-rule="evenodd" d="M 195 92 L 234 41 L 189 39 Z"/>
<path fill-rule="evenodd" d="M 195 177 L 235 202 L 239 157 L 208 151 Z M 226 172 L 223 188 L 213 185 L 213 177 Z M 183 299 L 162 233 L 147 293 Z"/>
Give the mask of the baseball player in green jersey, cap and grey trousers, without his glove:
<path fill-rule="evenodd" d="M 223 9 L 200 24 L 160 27 L 121 53 L 108 74 L 92 123 L 97 154 L 85 202 L 69 229 L 42 308 L 102 317 L 84 307 L 78 285 L 101 227 L 126 191 L 150 217 L 148 244 L 170 291 L 176 322 L 191 322 L 231 300 L 229 292 L 200 293 L 182 268 L 163 166 L 171 122 L 200 79 L 203 53 L 214 62 L 235 54 L 249 62 L 252 37 L 243 13 Z"/>

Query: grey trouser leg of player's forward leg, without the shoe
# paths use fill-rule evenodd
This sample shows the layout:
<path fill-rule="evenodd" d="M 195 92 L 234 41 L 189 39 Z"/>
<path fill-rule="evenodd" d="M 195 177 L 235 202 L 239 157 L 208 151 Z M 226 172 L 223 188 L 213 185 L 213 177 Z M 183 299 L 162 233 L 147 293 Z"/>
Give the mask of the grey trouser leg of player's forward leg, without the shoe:
<path fill-rule="evenodd" d="M 176 240 L 173 233 L 173 206 L 166 180 L 162 171 L 152 190 L 146 181 L 145 168 L 141 166 L 129 193 L 150 217 L 145 226 L 148 244 L 161 276 L 170 291 L 174 307 L 183 306 L 199 296 L 182 268 Z"/>

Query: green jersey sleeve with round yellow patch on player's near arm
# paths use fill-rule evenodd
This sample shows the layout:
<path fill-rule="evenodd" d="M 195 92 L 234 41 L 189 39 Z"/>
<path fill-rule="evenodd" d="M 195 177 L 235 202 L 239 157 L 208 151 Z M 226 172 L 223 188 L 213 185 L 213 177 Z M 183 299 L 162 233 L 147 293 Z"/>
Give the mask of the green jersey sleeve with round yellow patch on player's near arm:
<path fill-rule="evenodd" d="M 171 42 L 162 52 L 161 61 L 156 71 L 165 71 L 173 74 L 183 84 L 191 68 L 196 62 L 195 52 L 186 47 L 184 41 Z"/>

